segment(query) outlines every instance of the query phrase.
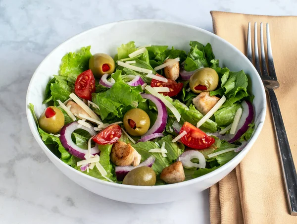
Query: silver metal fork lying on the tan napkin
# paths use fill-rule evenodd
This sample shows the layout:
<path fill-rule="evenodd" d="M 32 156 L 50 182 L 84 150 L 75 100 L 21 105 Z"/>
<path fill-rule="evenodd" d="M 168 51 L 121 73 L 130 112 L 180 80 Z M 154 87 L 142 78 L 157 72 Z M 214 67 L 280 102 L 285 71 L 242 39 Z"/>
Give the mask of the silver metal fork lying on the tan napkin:
<path fill-rule="evenodd" d="M 277 81 L 272 50 L 271 50 L 271 42 L 270 42 L 270 33 L 269 33 L 269 25 L 266 23 L 266 36 L 267 36 L 267 58 L 268 58 L 268 69 L 266 65 L 265 59 L 265 50 L 264 50 L 264 41 L 263 41 L 263 24 L 260 24 L 260 41 L 261 41 L 261 64 L 262 71 L 260 69 L 260 60 L 258 54 L 258 41 L 257 41 L 257 23 L 255 22 L 255 41 L 254 41 L 254 66 L 258 71 L 265 90 L 269 95 L 270 100 L 270 108 L 273 114 L 274 127 L 275 132 L 278 138 L 278 149 L 281 157 L 282 169 L 283 169 L 283 177 L 285 181 L 286 191 L 287 191 L 287 199 L 289 203 L 289 210 L 292 216 L 297 216 L 297 173 L 296 168 L 294 166 L 294 161 L 292 158 L 292 153 L 287 137 L 287 133 L 285 130 L 285 125 L 283 122 L 283 118 L 281 115 L 280 107 L 277 102 L 276 95 L 274 93 L 274 89 L 280 86 Z M 251 37 L 250 37 L 250 22 L 248 23 L 248 31 L 247 31 L 247 58 L 252 63 L 252 50 L 251 50 Z"/>

